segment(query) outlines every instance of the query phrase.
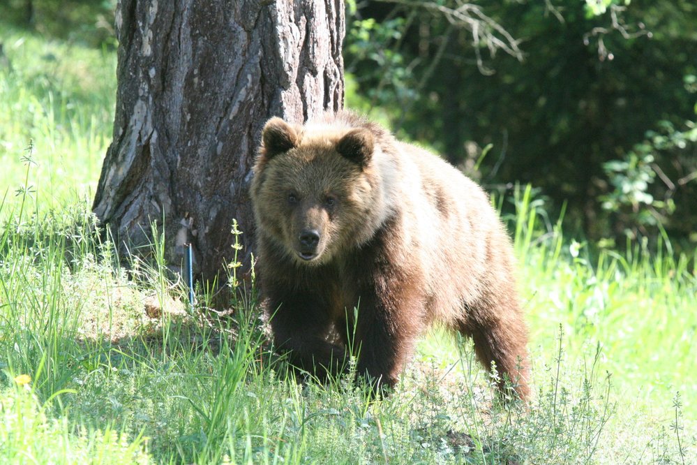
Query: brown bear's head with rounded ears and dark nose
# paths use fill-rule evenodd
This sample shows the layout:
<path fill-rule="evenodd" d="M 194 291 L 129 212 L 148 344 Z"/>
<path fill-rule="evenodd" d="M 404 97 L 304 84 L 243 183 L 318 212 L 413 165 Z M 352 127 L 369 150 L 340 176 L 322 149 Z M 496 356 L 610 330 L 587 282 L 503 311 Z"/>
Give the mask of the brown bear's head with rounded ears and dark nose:
<path fill-rule="evenodd" d="M 250 190 L 257 234 L 307 266 L 366 242 L 384 209 L 375 152 L 370 128 L 269 120 Z"/>

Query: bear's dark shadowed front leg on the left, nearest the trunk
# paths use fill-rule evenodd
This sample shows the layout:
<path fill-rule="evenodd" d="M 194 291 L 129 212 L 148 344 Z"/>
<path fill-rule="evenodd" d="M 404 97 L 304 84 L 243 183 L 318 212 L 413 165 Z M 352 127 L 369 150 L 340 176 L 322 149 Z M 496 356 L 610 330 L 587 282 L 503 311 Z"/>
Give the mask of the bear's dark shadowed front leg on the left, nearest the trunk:
<path fill-rule="evenodd" d="M 346 371 L 346 348 L 327 341 L 333 322 L 327 302 L 319 295 L 276 295 L 269 299 L 267 308 L 273 341 L 279 353 L 287 354 L 290 364 L 320 381 Z"/>

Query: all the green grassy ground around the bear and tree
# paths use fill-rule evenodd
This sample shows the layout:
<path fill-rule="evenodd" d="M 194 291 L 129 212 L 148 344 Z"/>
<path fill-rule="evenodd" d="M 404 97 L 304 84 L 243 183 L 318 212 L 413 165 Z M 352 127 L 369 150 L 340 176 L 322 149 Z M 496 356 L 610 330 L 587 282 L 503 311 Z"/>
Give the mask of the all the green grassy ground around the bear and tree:
<path fill-rule="evenodd" d="M 0 31 L 0 462 L 697 462 L 686 258 L 630 245 L 591 262 L 523 189 L 509 221 L 529 408 L 500 405 L 468 341 L 439 331 L 388 399 L 303 388 L 266 353 L 253 300 L 188 309 L 161 261 L 127 273 L 90 234 L 114 54 Z"/>

